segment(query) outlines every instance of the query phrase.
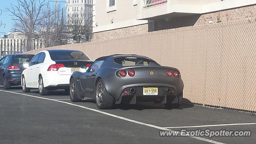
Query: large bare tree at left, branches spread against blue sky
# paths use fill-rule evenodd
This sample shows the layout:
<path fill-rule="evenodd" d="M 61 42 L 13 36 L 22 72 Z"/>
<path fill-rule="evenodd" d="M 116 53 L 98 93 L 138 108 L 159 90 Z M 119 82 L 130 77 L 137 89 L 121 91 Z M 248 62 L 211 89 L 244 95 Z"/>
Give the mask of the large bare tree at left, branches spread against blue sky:
<path fill-rule="evenodd" d="M 12 13 L 15 27 L 28 39 L 28 51 L 33 49 L 33 40 L 38 38 L 41 12 L 45 6 L 45 0 L 17 0 L 7 11 Z"/>

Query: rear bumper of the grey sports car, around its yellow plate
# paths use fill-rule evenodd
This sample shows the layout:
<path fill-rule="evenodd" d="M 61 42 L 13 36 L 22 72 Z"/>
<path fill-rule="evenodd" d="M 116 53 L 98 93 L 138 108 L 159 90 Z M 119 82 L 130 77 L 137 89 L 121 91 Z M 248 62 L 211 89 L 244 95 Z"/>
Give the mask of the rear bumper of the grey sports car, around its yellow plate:
<path fill-rule="evenodd" d="M 174 103 L 178 103 L 180 96 L 183 95 L 184 84 L 182 79 L 147 79 L 147 78 L 118 78 L 117 76 L 110 76 L 104 78 L 104 83 L 108 93 L 116 99 L 116 104 L 120 104 L 126 98 L 132 97 L 129 104 L 135 104 L 137 101 L 155 101 L 162 104 L 166 103 L 166 99 L 176 100 Z M 158 95 L 144 96 L 143 87 L 157 87 Z M 136 90 L 135 93 L 129 93 L 130 88 Z M 166 92 L 166 89 L 170 88 L 174 90 L 174 93 Z M 128 91 L 128 94 L 124 94 L 124 90 Z M 135 99 L 135 100 L 134 100 Z M 129 100 L 126 100 L 129 101 Z"/>

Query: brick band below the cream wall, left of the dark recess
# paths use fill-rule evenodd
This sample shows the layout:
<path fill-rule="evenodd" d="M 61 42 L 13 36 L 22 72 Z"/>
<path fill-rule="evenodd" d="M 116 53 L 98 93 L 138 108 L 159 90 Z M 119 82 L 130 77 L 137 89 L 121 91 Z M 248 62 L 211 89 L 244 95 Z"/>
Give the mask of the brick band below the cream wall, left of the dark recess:
<path fill-rule="evenodd" d="M 148 24 L 141 24 L 138 26 L 130 26 L 127 28 L 119 28 L 116 30 L 108 30 L 104 32 L 94 33 L 94 40 L 107 40 L 112 38 L 119 38 L 122 36 L 129 36 L 135 34 L 142 34 L 148 32 Z"/>

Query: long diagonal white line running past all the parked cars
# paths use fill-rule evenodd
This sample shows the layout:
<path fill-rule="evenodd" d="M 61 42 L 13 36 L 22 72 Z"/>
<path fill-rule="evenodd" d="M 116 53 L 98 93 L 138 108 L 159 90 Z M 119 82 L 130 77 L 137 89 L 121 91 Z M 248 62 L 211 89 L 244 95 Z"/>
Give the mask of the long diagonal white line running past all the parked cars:
<path fill-rule="evenodd" d="M 0 90 L 0 91 L 10 92 L 10 91 L 5 91 L 5 90 Z M 20 93 L 17 93 L 17 92 L 10 92 L 10 93 L 20 94 Z M 55 102 L 61 102 L 61 103 L 64 103 L 64 104 L 69 104 L 69 105 L 72 105 L 72 106 L 77 106 L 77 107 L 80 107 L 80 108 L 84 108 L 84 109 L 87 109 L 87 110 L 92 110 L 94 112 L 98 112 L 98 113 L 101 113 L 101 114 L 112 116 L 114 118 L 119 118 L 121 120 L 126 120 L 126 121 L 129 121 L 129 122 L 133 122 L 133 123 L 136 123 L 136 124 L 141 124 L 141 125 L 144 125 L 144 126 L 149 126 L 149 127 L 152 127 L 152 128 L 157 128 L 159 130 L 173 131 L 173 132 L 176 132 L 178 134 L 184 134 L 184 133 L 181 133 L 181 132 L 178 132 L 178 131 L 175 131 L 175 130 L 170 130 L 168 128 L 163 128 L 163 127 L 155 126 L 155 125 L 152 125 L 152 124 L 146 124 L 144 122 L 139 122 L 139 121 L 132 120 L 132 119 L 129 119 L 129 118 L 124 118 L 122 116 L 117 116 L 117 115 L 110 114 L 110 113 L 107 113 L 107 112 L 103 112 L 103 111 L 100 111 L 100 110 L 96 110 L 96 109 L 93 109 L 93 108 L 88 108 L 86 106 L 80 106 L 78 104 L 72 104 L 72 103 L 69 103 L 69 102 L 63 102 L 63 101 L 60 101 L 60 100 L 54 100 L 54 99 L 50 99 L 50 98 L 43 98 L 43 97 L 39 97 L 39 96 L 32 96 L 32 95 L 28 95 L 28 94 L 20 94 L 20 95 L 30 96 L 30 97 L 34 97 L 34 98 L 40 98 L 40 99 L 44 99 L 44 100 L 52 100 L 52 101 L 55 101 Z M 202 141 L 205 141 L 205 142 L 210 142 L 210 143 L 213 143 L 213 144 L 225 144 L 225 143 L 222 143 L 222 142 L 217 142 L 217 141 L 214 141 L 214 140 L 209 140 L 209 139 L 201 138 L 201 137 L 198 137 L 198 136 L 190 136 L 190 135 L 186 135 L 186 136 L 188 136 L 190 138 L 195 138 L 197 140 L 202 140 Z"/>

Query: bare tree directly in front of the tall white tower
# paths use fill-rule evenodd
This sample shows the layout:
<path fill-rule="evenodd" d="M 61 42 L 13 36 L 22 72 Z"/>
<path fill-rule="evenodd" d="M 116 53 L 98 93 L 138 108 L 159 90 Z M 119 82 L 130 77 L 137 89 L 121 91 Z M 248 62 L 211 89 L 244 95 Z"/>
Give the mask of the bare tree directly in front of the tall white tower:
<path fill-rule="evenodd" d="M 85 19 L 85 14 L 82 12 L 76 12 L 72 16 L 68 16 L 67 31 L 74 37 L 76 43 L 80 43 L 86 38 L 92 36 L 92 26 L 90 20 Z"/>

